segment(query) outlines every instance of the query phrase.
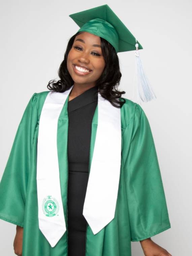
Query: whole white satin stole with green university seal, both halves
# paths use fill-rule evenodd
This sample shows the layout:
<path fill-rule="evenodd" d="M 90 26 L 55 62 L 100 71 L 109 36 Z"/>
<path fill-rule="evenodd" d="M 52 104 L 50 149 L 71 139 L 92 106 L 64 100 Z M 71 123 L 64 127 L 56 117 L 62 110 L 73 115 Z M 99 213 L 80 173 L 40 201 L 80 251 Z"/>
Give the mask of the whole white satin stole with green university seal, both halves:
<path fill-rule="evenodd" d="M 54 247 L 66 231 L 57 154 L 57 124 L 71 86 L 49 92 L 39 120 L 37 197 L 39 229 Z M 121 167 L 121 112 L 98 93 L 98 125 L 83 215 L 94 234 L 115 216 Z"/>

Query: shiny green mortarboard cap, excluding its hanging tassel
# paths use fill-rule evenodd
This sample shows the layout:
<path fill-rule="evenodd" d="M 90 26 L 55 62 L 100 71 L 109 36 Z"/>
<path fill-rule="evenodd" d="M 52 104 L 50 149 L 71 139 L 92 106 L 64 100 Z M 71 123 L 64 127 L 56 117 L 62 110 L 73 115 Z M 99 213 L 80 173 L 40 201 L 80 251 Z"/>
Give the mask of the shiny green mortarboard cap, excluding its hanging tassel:
<path fill-rule="evenodd" d="M 86 31 L 104 38 L 117 53 L 135 50 L 135 37 L 107 4 L 70 14 L 69 17 L 80 27 L 78 32 Z M 138 49 L 143 49 L 137 43 Z"/>

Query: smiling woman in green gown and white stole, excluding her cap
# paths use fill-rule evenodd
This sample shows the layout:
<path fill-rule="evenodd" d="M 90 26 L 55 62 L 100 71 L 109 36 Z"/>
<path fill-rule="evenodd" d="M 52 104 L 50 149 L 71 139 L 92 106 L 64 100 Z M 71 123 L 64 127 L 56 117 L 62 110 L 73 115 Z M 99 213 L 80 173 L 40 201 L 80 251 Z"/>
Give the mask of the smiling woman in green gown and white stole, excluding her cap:
<path fill-rule="evenodd" d="M 122 98 L 125 92 L 115 88 L 121 79 L 115 47 L 94 33 L 78 31 L 68 42 L 59 76 L 47 86 L 50 92 L 35 93 L 27 105 L 0 183 L 0 218 L 17 225 L 15 254 L 131 256 L 131 241 L 140 241 L 146 256 L 171 256 L 151 239 L 170 228 L 165 195 L 148 119 L 138 104 Z M 61 112 L 54 121 L 50 116 L 58 107 Z M 111 119 L 108 109 L 114 111 Z M 118 126 L 114 129 L 119 120 L 121 134 Z M 50 144 L 55 134 L 58 152 L 54 142 Z M 116 139 L 119 134 L 122 144 Z M 55 152 L 58 163 L 52 161 Z M 41 171 L 45 160 L 48 164 Z M 116 162 L 121 169 L 114 174 Z M 109 166 L 109 172 L 102 166 Z M 59 187 L 62 202 L 47 195 L 41 213 L 41 189 L 46 190 L 46 184 Z M 52 222 L 56 216 L 60 222 Z"/>

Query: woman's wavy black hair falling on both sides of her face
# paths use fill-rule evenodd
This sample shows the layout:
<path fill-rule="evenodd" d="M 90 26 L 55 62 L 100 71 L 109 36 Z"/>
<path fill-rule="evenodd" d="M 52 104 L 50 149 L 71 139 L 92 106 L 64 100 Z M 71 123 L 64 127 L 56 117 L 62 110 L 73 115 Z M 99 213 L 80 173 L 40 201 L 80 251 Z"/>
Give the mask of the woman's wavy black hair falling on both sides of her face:
<path fill-rule="evenodd" d="M 64 60 L 62 61 L 58 70 L 60 80 L 57 82 L 55 80 L 49 81 L 49 84 L 47 85 L 47 88 L 49 90 L 53 92 L 65 92 L 74 84 L 74 81 L 67 69 L 67 56 L 69 54 L 69 51 L 71 50 L 75 37 L 81 33 L 83 32 L 77 32 L 69 39 L 64 55 Z M 116 88 L 119 86 L 122 76 L 119 67 L 119 58 L 117 56 L 115 48 L 104 38 L 100 38 L 101 50 L 103 58 L 105 60 L 105 67 L 103 73 L 96 81 L 96 86 L 98 85 L 98 92 L 103 98 L 110 101 L 110 103 L 115 107 L 122 107 L 125 103 L 125 99 L 121 98 L 121 95 L 125 94 L 125 92 L 120 92 Z M 121 98 L 121 100 L 119 101 L 118 98 Z"/>

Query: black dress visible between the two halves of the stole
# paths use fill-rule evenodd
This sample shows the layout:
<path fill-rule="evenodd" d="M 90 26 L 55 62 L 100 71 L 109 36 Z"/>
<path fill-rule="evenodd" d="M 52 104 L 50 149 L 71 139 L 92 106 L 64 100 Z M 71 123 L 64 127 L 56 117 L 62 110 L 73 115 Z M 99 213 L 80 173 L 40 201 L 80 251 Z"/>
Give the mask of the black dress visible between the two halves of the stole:
<path fill-rule="evenodd" d="M 85 256 L 87 221 L 83 216 L 92 119 L 98 86 L 68 101 L 68 256 Z"/>

